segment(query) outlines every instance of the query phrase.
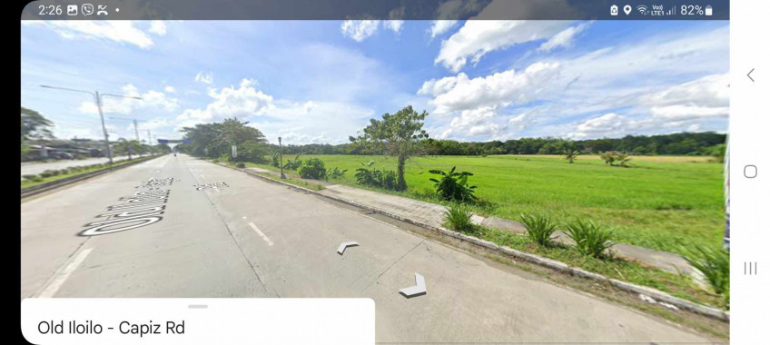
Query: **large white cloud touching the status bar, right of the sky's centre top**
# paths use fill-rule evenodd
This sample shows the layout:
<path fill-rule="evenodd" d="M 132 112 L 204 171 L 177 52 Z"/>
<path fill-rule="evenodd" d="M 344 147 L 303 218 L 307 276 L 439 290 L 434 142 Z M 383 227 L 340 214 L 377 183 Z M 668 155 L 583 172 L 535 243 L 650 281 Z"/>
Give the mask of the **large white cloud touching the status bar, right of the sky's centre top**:
<path fill-rule="evenodd" d="M 467 21 L 459 31 L 441 42 L 435 64 L 458 72 L 468 59 L 478 63 L 484 54 L 514 44 L 546 39 L 569 25 L 563 21 Z"/>

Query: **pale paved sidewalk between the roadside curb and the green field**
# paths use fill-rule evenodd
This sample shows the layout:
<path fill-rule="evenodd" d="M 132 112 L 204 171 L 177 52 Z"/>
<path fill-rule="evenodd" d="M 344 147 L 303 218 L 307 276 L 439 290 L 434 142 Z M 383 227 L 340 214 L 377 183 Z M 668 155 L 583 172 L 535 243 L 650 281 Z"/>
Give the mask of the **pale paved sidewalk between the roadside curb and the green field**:
<path fill-rule="evenodd" d="M 276 176 L 280 175 L 280 173 L 261 168 L 247 169 L 257 173 L 270 173 Z M 320 191 L 321 194 L 327 194 L 350 202 L 360 203 L 371 208 L 395 214 L 401 218 L 411 219 L 435 227 L 442 226 L 442 223 L 444 222 L 444 211 L 447 210 L 447 207 L 443 205 L 421 202 L 419 200 L 398 195 L 372 192 L 343 184 L 331 184 L 329 182 L 308 179 L 303 180 L 322 184 L 324 189 Z M 471 222 L 505 232 L 522 234 L 525 232 L 525 228 L 521 223 L 498 217 L 484 217 L 474 214 L 471 217 Z M 572 244 L 572 239 L 570 239 L 565 232 L 558 231 L 555 232 L 555 235 L 556 242 Z M 691 267 L 687 261 L 678 254 L 666 251 L 654 251 L 626 243 L 617 243 L 612 247 L 612 251 L 614 251 L 617 256 L 630 261 L 639 261 L 647 266 L 656 267 L 660 270 L 675 274 L 679 271 L 683 271 L 696 278 L 696 281 L 702 279 L 700 272 Z"/>

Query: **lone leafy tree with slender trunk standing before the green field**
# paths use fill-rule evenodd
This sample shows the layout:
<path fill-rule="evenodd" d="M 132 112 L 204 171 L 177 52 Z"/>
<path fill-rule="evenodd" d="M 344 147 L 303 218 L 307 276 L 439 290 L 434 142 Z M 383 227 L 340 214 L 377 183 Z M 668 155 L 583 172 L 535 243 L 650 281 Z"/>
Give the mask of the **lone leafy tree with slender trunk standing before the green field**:
<path fill-rule="evenodd" d="M 350 136 L 350 142 L 358 143 L 372 151 L 396 157 L 398 160 L 396 190 L 407 189 L 404 180 L 404 165 L 414 155 L 424 152 L 420 142 L 428 139 L 428 133 L 422 129 L 428 112 L 417 113 L 411 105 L 397 113 L 384 113 L 382 120 L 370 119 L 370 124 L 358 137 Z"/>

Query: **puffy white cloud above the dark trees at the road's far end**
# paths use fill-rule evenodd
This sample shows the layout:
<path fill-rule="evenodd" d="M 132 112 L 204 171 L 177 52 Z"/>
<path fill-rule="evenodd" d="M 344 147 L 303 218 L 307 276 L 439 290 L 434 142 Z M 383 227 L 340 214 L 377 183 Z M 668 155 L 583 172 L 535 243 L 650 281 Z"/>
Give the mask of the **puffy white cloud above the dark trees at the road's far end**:
<path fill-rule="evenodd" d="M 213 101 L 203 109 L 185 109 L 176 117 L 181 122 L 177 127 L 222 121 L 225 118 L 245 119 L 267 114 L 275 107 L 272 96 L 257 91 L 253 86 L 254 81 L 243 79 L 237 88 L 230 86 L 219 91 L 210 89 L 209 97 L 212 97 Z"/>

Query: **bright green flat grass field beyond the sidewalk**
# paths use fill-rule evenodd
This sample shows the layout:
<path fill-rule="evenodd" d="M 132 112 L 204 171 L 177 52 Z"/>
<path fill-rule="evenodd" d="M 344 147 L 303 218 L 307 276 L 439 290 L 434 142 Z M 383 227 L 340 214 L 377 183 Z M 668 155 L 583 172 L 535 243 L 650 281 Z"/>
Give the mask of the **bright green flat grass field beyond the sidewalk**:
<path fill-rule="evenodd" d="M 354 174 L 360 163 L 373 160 L 378 169 L 396 168 L 394 159 L 382 156 L 301 159 L 310 157 L 321 158 L 327 168 L 348 169 L 333 182 L 353 186 L 359 186 Z M 635 156 L 631 163 L 631 168 L 610 167 L 590 155 L 578 156 L 572 164 L 548 155 L 419 157 L 407 165 L 409 190 L 399 194 L 439 202 L 429 181 L 434 175 L 428 171 L 448 171 L 456 165 L 459 171 L 474 173 L 469 182 L 479 186 L 476 194 L 483 202 L 473 208 L 482 214 L 517 220 L 522 212 L 540 212 L 560 222 L 590 219 L 613 228 L 618 242 L 661 251 L 721 242 L 722 163 L 671 156 Z"/>

